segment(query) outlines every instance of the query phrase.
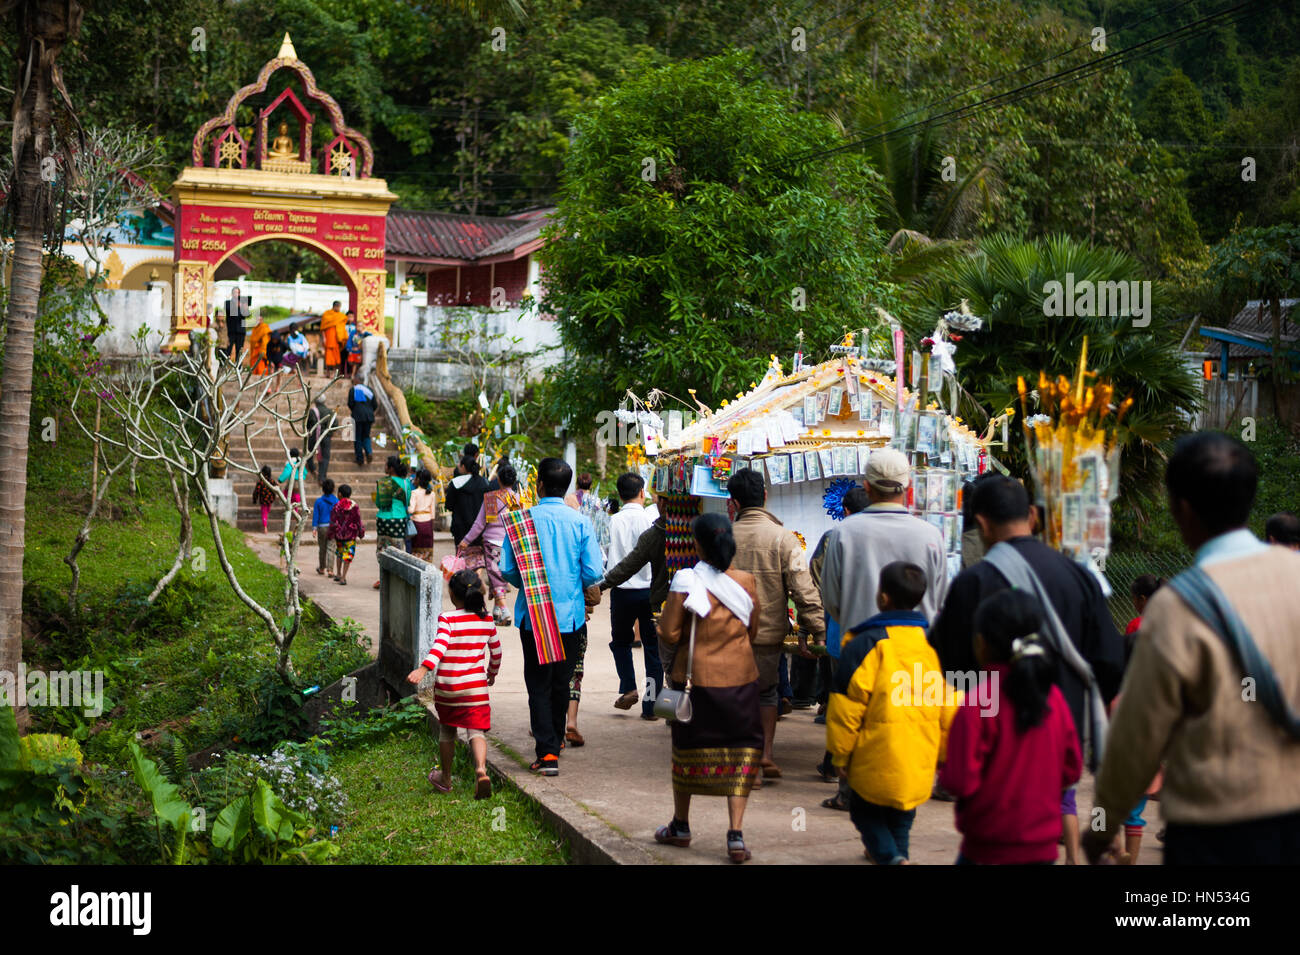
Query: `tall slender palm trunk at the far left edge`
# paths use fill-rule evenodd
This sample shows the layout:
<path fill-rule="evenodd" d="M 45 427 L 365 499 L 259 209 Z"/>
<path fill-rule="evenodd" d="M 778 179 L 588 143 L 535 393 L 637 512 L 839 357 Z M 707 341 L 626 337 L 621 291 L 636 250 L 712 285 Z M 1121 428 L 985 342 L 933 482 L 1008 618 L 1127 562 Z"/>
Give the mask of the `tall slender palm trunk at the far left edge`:
<path fill-rule="evenodd" d="M 6 0 L 0 3 L 0 17 L 8 16 L 13 16 L 17 43 L 14 165 L 5 188 L 13 266 L 0 381 L 0 670 L 17 673 L 22 660 L 23 511 L 40 261 L 47 236 L 62 235 L 53 187 L 42 173 L 52 168 L 60 101 L 69 101 L 58 55 L 81 29 L 82 6 L 75 0 Z M 18 721 L 25 725 L 25 712 L 18 713 Z"/>

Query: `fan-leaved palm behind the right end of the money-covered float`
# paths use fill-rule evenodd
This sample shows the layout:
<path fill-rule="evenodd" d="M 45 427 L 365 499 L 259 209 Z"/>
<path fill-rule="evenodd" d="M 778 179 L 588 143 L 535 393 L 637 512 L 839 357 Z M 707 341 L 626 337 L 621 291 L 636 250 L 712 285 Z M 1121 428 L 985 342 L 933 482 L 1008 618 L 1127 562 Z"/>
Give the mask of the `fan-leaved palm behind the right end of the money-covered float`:
<path fill-rule="evenodd" d="M 1072 377 L 1087 335 L 1089 369 L 1114 383 L 1117 398 L 1135 399 L 1124 421 L 1131 438 L 1124 447 L 1123 490 L 1152 499 L 1160 492 L 1160 446 L 1187 426 L 1201 396 L 1179 350 L 1180 329 L 1162 322 L 1158 312 L 1147 327 L 1134 327 L 1127 317 L 1044 314 L 1048 282 L 1065 282 L 1069 274 L 1075 285 L 1138 281 L 1139 269 L 1124 252 L 1063 235 L 1035 242 L 992 236 L 979 243 L 976 255 L 952 262 L 927 282 L 923 317 L 904 324 L 914 335 L 930 334 L 935 317 L 962 299 L 984 318 L 983 329 L 962 339 L 956 359 L 961 385 L 984 414 L 1017 404 L 1018 376 L 1027 382 L 1036 382 L 1040 370 Z M 978 422 L 974 408 L 963 409 Z M 1023 443 L 1013 440 L 1009 451 L 1009 466 L 1024 474 Z"/>

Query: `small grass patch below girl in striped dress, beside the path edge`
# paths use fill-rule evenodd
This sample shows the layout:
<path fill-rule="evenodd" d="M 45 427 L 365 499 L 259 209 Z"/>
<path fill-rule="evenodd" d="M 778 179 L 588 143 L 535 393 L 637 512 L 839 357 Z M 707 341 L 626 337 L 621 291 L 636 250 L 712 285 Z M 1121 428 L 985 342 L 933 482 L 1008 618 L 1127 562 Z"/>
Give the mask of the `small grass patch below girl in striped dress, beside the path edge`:
<path fill-rule="evenodd" d="M 396 733 L 337 754 L 338 776 L 352 807 L 339 830 L 343 864 L 562 865 L 567 847 L 546 828 L 537 807 L 508 783 L 493 782 L 490 799 L 474 799 L 469 750 L 456 746 L 454 791 L 429 785 L 438 746 L 426 733 Z"/>

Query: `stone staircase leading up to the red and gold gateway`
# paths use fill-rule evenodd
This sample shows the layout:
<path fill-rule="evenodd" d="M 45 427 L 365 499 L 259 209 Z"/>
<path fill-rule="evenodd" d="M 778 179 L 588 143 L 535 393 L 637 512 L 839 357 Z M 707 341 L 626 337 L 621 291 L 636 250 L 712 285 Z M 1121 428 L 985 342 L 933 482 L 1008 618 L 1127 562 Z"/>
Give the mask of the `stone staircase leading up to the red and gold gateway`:
<path fill-rule="evenodd" d="M 287 376 L 285 377 L 285 388 L 296 390 L 296 382 L 290 385 L 292 379 Z M 320 376 L 308 376 L 307 382 L 311 386 L 312 394 L 317 394 L 325 385 L 329 383 L 328 378 Z M 234 388 L 226 391 L 226 399 L 234 399 Z M 244 400 L 250 400 L 246 395 Z M 280 413 L 291 413 L 296 418 L 302 418 L 307 413 L 307 408 L 303 405 L 303 395 L 300 392 L 289 395 L 282 394 L 276 399 L 274 409 Z M 382 408 L 376 412 L 377 417 L 374 425 L 370 429 L 372 444 L 374 444 L 374 460 L 369 464 L 356 464 L 352 456 L 352 442 L 350 439 L 351 416 L 347 409 L 347 385 L 346 382 L 339 382 L 334 385 L 325 395 L 326 404 L 338 416 L 338 421 L 343 425 L 342 430 L 335 430 L 333 434 L 333 442 L 330 447 L 330 463 L 326 477 L 334 481 L 334 485 L 351 485 L 352 498 L 361 507 L 361 518 L 365 521 L 367 537 L 374 534 L 374 502 L 372 495 L 374 494 L 376 482 L 384 476 L 384 461 L 396 450 L 396 443 L 394 440 L 394 429 L 390 422 L 384 417 Z M 266 418 L 270 418 L 266 414 Z M 256 425 L 255 425 L 256 426 Z M 290 447 L 295 446 L 294 438 L 290 435 L 290 429 L 285 429 L 285 439 Z M 381 433 L 389 435 L 389 446 L 381 448 L 378 443 L 373 439 Z M 260 468 L 266 464 L 270 465 L 272 479 L 280 477 L 280 472 L 285 466 L 285 448 L 276 434 L 274 422 L 261 434 L 252 438 L 252 451 L 256 457 L 256 464 Z M 299 450 L 302 450 L 302 442 L 298 442 Z M 238 463 L 244 466 L 251 466 L 254 459 L 248 455 L 248 446 L 244 442 L 242 431 L 231 435 L 229 457 L 231 463 Z M 231 479 L 234 485 L 235 502 L 237 502 L 237 518 L 235 526 L 243 531 L 261 533 L 261 509 L 252 500 L 252 490 L 257 482 L 255 473 L 248 473 L 237 466 L 230 466 L 226 469 L 226 477 Z M 311 473 L 307 474 L 306 479 L 306 505 L 311 508 L 312 503 L 320 495 L 320 478 Z M 283 526 L 280 520 L 283 517 L 283 511 L 278 505 L 273 505 L 270 509 L 270 522 L 269 528 L 276 530 L 277 526 Z"/>

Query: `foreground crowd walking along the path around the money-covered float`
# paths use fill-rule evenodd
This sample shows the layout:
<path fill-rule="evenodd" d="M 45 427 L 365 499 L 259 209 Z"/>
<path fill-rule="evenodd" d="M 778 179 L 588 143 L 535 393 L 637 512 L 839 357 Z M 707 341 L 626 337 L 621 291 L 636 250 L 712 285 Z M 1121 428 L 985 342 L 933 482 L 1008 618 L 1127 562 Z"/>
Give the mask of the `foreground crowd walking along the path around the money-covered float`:
<path fill-rule="evenodd" d="M 520 591 L 511 622 L 533 772 L 556 776 L 566 745 L 584 742 L 575 670 L 586 621 L 608 591 L 615 706 L 640 702 L 642 719 L 670 720 L 673 806 L 659 843 L 688 847 L 692 796 L 725 796 L 727 856 L 753 856 L 745 807 L 764 778 L 781 777 L 780 657 L 793 620 L 796 659 L 824 685 L 818 769 L 838 782 L 826 806 L 846 812 L 876 864 L 910 863 L 916 807 L 932 798 L 954 803 L 958 864 L 1052 864 L 1061 842 L 1067 863 L 1134 863 L 1152 796 L 1166 863 L 1300 860 L 1300 595 L 1286 586 L 1300 572 L 1300 522 L 1271 517 L 1268 543 L 1247 529 L 1257 468 L 1243 444 L 1199 433 L 1176 446 L 1169 504 L 1195 563 L 1173 581 L 1134 582 L 1138 616 L 1124 635 L 1100 574 L 1043 543 L 1028 492 L 1005 476 L 967 489 L 983 556 L 949 581 L 937 531 L 902 503 L 909 472 L 901 453 L 874 452 L 863 486 L 846 495 L 848 516 L 805 559 L 766 508 L 762 477 L 742 470 L 727 487 L 731 516 L 697 517 L 697 561 L 670 577 L 664 524 L 646 507 L 640 476 L 618 479 L 602 547 L 582 496 L 568 495 L 567 464 L 541 461 L 532 508 L 519 507 L 510 482 L 503 505 L 489 507 L 467 455 L 452 485 L 472 496 L 448 491 L 448 509 L 460 552 L 484 547 L 493 596 L 502 583 Z M 489 560 L 491 526 L 499 537 Z M 473 569 L 464 579 L 452 586 L 456 613 L 471 599 L 476 620 L 462 639 L 448 616 L 438 652 L 482 660 L 500 615 L 493 620 Z M 826 664 L 812 652 L 823 643 Z M 422 667 L 439 669 L 434 654 Z M 472 674 L 484 707 L 498 668 L 493 651 Z M 478 772 L 480 750 L 473 755 Z M 1096 799 L 1080 826 L 1084 773 L 1095 776 Z M 430 778 L 439 791 L 447 782 Z"/>

